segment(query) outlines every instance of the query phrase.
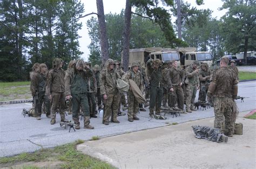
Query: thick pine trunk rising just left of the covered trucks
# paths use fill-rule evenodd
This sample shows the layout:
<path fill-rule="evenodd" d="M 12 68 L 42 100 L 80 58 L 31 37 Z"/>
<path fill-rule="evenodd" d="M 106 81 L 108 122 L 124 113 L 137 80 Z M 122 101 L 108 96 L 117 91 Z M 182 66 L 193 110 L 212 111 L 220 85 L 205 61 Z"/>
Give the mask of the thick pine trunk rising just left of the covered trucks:
<path fill-rule="evenodd" d="M 129 51 L 130 51 L 130 29 L 131 29 L 131 17 L 132 17 L 132 5 L 130 0 L 126 0 L 125 6 L 125 20 L 124 20 L 124 32 L 123 32 L 123 67 L 124 71 L 128 71 L 129 67 Z"/>

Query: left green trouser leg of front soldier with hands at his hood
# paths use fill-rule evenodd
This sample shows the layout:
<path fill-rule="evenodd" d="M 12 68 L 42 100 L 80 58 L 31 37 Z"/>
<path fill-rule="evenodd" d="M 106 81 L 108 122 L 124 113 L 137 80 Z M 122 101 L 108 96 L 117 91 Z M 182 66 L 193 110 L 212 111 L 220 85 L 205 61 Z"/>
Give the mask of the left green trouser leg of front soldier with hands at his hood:
<path fill-rule="evenodd" d="M 72 95 L 72 119 L 75 124 L 77 124 L 77 129 L 80 129 L 80 122 L 79 122 L 79 113 L 80 113 L 80 96 L 79 95 Z M 79 127 L 78 127 L 79 126 Z"/>

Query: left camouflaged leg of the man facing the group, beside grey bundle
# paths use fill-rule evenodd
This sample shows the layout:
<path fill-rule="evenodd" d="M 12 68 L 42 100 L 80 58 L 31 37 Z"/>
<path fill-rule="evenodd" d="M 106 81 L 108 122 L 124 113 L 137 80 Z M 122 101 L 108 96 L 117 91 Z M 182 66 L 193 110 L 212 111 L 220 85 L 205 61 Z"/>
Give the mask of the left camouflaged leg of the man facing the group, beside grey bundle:
<path fill-rule="evenodd" d="M 222 100 L 221 98 L 215 97 L 214 98 L 214 128 L 220 129 L 221 132 L 224 132 L 224 115 L 221 112 L 222 107 Z"/>

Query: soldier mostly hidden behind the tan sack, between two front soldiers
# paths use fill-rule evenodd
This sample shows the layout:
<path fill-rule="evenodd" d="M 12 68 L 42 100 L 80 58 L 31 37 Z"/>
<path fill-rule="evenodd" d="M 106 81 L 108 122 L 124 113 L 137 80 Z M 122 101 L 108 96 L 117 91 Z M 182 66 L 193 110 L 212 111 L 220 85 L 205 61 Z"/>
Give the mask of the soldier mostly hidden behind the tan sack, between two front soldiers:
<path fill-rule="evenodd" d="M 119 61 L 115 61 L 116 64 L 116 72 L 119 74 L 119 76 L 122 78 L 122 76 L 125 74 L 125 72 L 122 70 L 121 68 L 121 64 Z M 126 98 L 125 98 L 125 94 L 123 92 L 120 92 L 120 96 L 119 96 L 119 105 L 118 105 L 118 111 L 117 111 L 117 115 L 118 116 L 124 116 L 125 114 L 122 113 L 120 111 L 121 108 L 121 104 L 123 105 L 123 111 L 127 110 L 127 103 L 126 103 Z"/>

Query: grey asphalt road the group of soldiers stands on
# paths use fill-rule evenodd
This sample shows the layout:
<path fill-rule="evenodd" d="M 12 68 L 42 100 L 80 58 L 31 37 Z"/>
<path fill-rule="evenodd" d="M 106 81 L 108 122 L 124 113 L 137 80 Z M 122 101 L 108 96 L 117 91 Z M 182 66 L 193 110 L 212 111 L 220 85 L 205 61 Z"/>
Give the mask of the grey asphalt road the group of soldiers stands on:
<path fill-rule="evenodd" d="M 240 96 L 245 98 L 245 102 L 237 100 L 240 111 L 256 109 L 256 81 L 240 82 Z M 33 117 L 23 117 L 22 109 L 31 108 L 30 103 L 8 104 L 0 106 L 0 157 L 13 156 L 22 152 L 33 152 L 43 148 L 50 148 L 66 143 L 71 143 L 77 139 L 89 140 L 92 136 L 107 137 L 129 133 L 145 129 L 158 128 L 166 126 L 167 123 L 184 123 L 213 117 L 213 108 L 206 110 L 194 111 L 191 114 L 180 114 L 172 118 L 172 115 L 166 115 L 167 119 L 158 120 L 149 117 L 147 112 L 140 112 L 139 121 L 133 123 L 127 121 L 127 116 L 118 117 L 119 124 L 110 123 L 106 126 L 102 124 L 102 118 L 92 118 L 91 125 L 95 126 L 94 130 L 80 129 L 74 132 L 72 129 L 64 129 L 59 126 L 60 117 L 57 114 L 57 123 L 50 125 L 50 119 L 42 115 L 41 121 Z M 71 115 L 66 116 L 71 119 Z M 83 122 L 80 124 L 83 126 Z"/>

